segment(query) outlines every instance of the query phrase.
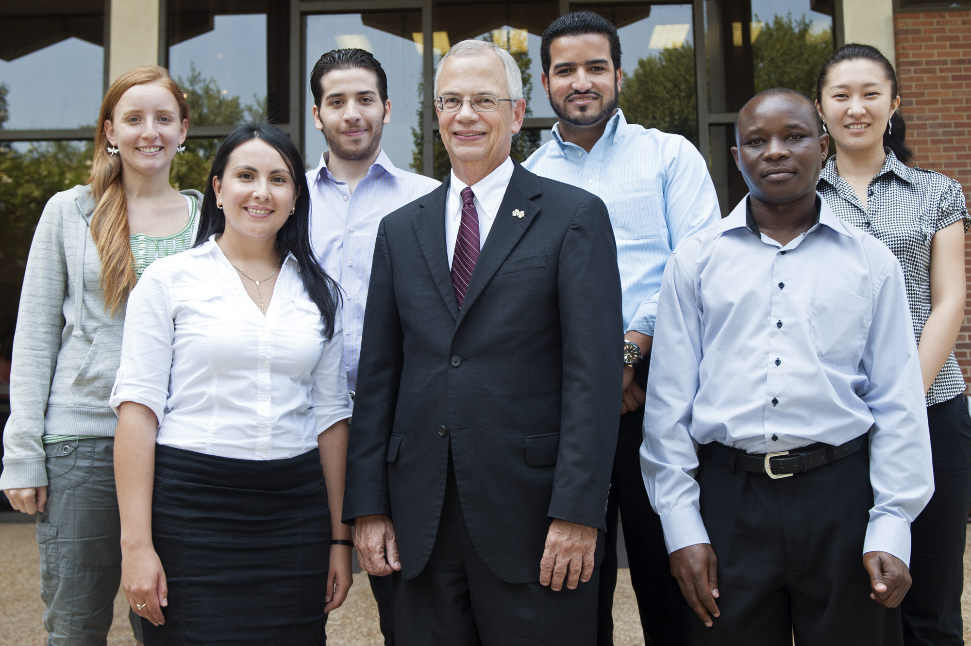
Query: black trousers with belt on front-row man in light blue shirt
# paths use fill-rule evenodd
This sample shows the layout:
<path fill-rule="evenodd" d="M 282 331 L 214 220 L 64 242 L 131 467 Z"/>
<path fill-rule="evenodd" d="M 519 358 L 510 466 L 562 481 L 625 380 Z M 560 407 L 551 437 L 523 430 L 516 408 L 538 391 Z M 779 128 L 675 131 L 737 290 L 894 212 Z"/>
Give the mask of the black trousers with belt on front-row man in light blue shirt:
<path fill-rule="evenodd" d="M 698 646 L 876 646 L 863 538 L 873 506 L 869 453 L 773 480 L 702 460 L 701 516 L 719 559 L 720 617 L 692 621 Z"/>

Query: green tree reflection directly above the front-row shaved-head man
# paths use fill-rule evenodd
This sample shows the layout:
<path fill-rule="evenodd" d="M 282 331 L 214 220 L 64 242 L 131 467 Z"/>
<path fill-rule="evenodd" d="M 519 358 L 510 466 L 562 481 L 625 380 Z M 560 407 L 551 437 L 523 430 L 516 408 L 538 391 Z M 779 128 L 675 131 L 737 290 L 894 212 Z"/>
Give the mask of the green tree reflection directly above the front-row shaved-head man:
<path fill-rule="evenodd" d="M 762 27 L 752 45 L 755 92 L 789 87 L 816 98 L 816 80 L 822 63 L 833 53 L 833 37 L 829 28 L 819 33 L 812 28 L 806 16 L 793 19 L 792 14 L 775 16 Z"/>

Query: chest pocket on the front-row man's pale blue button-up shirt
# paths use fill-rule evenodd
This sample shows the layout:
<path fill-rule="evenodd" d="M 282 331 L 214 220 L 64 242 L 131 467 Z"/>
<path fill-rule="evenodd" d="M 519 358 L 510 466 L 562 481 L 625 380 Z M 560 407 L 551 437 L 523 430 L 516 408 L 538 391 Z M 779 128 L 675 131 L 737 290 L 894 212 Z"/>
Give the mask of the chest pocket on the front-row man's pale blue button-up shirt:
<path fill-rule="evenodd" d="M 816 286 L 810 337 L 816 353 L 843 366 L 863 354 L 873 304 L 862 296 L 820 282 Z"/>

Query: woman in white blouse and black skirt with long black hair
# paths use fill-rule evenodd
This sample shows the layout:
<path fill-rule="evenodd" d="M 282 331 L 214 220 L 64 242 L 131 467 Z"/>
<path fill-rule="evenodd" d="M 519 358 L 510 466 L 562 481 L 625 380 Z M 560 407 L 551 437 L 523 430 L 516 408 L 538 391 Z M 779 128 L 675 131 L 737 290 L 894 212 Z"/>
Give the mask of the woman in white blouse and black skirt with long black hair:
<path fill-rule="evenodd" d="M 347 597 L 351 402 L 309 209 L 289 138 L 239 126 L 199 242 L 129 297 L 111 399 L 121 583 L 149 646 L 316 646 Z"/>

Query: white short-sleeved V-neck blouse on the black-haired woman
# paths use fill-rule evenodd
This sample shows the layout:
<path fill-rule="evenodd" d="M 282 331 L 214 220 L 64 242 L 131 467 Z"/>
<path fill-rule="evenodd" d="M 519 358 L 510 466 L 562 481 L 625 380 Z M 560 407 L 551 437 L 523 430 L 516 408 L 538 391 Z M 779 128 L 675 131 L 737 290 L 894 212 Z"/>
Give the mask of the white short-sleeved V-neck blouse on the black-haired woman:
<path fill-rule="evenodd" d="M 323 335 L 287 255 L 260 311 L 215 242 L 156 260 L 128 297 L 111 405 L 145 404 L 155 441 L 242 460 L 282 460 L 317 447 L 351 417 L 340 313 Z M 266 295 L 264 295 L 264 300 Z"/>

